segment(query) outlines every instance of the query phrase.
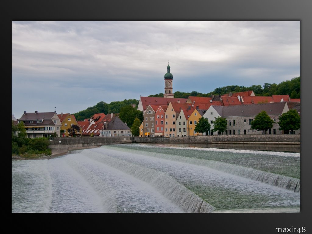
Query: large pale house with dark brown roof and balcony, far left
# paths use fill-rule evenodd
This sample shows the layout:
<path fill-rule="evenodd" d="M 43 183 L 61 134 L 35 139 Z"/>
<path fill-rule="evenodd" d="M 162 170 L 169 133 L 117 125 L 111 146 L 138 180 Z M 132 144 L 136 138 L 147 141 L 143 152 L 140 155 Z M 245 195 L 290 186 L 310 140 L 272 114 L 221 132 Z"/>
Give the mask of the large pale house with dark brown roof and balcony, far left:
<path fill-rule="evenodd" d="M 18 123 L 23 122 L 25 125 L 28 138 L 50 137 L 54 133 L 59 137 L 61 135 L 61 121 L 54 112 L 38 112 L 24 114 L 18 119 Z"/>

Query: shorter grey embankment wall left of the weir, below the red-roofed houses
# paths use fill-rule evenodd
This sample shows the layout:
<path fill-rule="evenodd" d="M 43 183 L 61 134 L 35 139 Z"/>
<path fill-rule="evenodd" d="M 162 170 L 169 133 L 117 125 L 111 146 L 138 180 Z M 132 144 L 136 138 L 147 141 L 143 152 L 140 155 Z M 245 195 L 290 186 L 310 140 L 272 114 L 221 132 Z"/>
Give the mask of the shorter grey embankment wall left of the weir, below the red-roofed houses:
<path fill-rule="evenodd" d="M 123 143 L 131 143 L 130 137 L 53 137 L 49 148 L 69 149 Z"/>

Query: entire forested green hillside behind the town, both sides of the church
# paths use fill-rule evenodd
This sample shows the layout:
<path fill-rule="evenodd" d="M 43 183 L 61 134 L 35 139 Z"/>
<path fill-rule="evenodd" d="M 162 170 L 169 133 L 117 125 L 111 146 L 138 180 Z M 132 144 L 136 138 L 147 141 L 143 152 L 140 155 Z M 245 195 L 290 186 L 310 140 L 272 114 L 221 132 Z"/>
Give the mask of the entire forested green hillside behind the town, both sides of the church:
<path fill-rule="evenodd" d="M 188 96 L 197 96 L 197 97 L 211 97 L 211 95 L 223 95 L 228 94 L 229 92 L 243 92 L 253 90 L 256 96 L 271 96 L 271 95 L 289 95 L 290 98 L 300 98 L 300 76 L 295 77 L 291 80 L 286 80 L 280 84 L 269 84 L 265 83 L 264 85 L 251 85 L 250 87 L 238 86 L 238 85 L 227 85 L 215 89 L 214 91 L 203 94 L 197 91 L 192 91 L 190 93 L 176 91 L 174 92 L 175 98 L 188 98 Z M 138 94 L 139 95 L 139 94 Z M 149 97 L 163 97 L 163 93 L 149 95 Z M 119 113 L 120 108 L 127 105 L 135 105 L 135 110 L 137 110 L 139 100 L 129 99 L 123 101 L 113 101 L 110 104 L 100 101 L 95 106 L 88 107 L 86 110 L 79 111 L 74 113 L 77 120 L 89 119 L 92 115 L 96 113 Z"/>

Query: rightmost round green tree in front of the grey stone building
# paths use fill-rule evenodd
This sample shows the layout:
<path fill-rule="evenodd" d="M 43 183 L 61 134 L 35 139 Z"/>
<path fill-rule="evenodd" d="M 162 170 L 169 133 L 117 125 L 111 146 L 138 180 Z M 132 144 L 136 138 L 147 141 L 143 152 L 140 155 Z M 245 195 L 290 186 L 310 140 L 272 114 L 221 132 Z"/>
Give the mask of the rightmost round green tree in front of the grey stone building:
<path fill-rule="evenodd" d="M 291 109 L 283 113 L 279 117 L 278 125 L 280 126 L 279 129 L 284 131 L 284 134 L 300 129 L 300 115 L 297 110 Z"/>

